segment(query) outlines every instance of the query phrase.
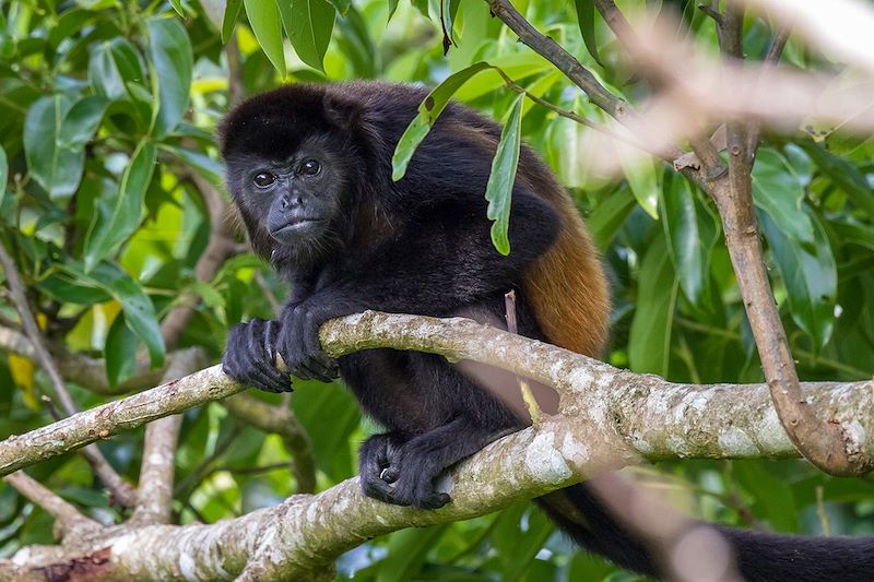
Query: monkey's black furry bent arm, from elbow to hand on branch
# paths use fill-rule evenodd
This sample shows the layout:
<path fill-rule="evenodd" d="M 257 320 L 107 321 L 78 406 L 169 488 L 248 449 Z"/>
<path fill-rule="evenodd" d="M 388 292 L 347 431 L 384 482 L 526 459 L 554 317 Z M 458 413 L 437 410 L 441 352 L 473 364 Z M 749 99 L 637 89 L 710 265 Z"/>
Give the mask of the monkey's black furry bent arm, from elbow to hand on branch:
<path fill-rule="evenodd" d="M 513 194 L 509 256 L 492 245 L 483 204 L 441 205 L 420 215 L 369 259 L 347 266 L 332 284 L 283 310 L 276 349 L 290 369 L 311 369 L 310 363 L 324 360 L 318 332 L 329 319 L 366 309 L 449 316 L 519 283 L 525 266 L 555 240 L 560 223 L 533 193 L 519 188 Z"/>

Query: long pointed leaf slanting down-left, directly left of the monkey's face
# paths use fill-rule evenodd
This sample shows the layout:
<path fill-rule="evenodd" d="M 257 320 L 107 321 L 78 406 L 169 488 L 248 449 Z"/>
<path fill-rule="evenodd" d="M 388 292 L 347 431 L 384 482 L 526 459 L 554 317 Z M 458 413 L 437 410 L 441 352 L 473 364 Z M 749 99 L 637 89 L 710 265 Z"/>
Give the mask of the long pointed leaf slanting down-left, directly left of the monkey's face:
<path fill-rule="evenodd" d="M 140 142 L 125 169 L 117 195 L 97 202 L 97 212 L 85 238 L 85 270 L 91 271 L 123 242 L 142 217 L 145 190 L 155 169 L 155 146 Z"/>

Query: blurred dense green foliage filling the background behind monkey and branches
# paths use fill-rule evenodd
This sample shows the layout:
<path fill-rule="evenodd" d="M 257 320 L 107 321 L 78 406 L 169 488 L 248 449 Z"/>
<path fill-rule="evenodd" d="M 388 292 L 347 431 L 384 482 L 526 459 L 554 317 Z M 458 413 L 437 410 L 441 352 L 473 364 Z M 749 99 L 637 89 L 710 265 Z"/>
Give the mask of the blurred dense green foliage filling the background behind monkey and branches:
<path fill-rule="evenodd" d="M 105 356 L 116 383 L 131 372 L 138 349 L 156 365 L 163 360 L 158 322 L 182 296 L 202 301 L 180 346 L 204 346 L 216 360 L 229 325 L 271 316 L 255 281 L 262 276 L 280 297 L 284 288 L 253 257 L 238 254 L 210 282 L 197 282 L 192 273 L 206 245 L 209 217 L 187 173 L 221 181 L 213 130 L 227 109 L 222 39 L 232 37 L 235 23 L 249 95 L 299 81 L 374 78 L 434 85 L 487 60 L 532 94 L 604 119 L 493 19 L 485 2 L 444 3 L 457 43 L 448 56 L 440 2 L 429 7 L 427 0 L 295 0 L 280 2 L 282 10 L 271 0 L 237 0 L 228 2 L 227 14 L 225 2 L 206 0 L 0 3 L 0 238 L 19 262 L 47 335 L 70 349 Z M 696 2 L 646 4 L 652 12 L 682 12 L 690 33 L 677 34 L 693 35 L 701 50 L 716 54 L 712 21 Z M 622 64 L 617 43 L 588 2 L 515 5 L 617 94 L 631 102 L 647 95 L 648 86 Z M 283 44 L 286 37 L 294 48 Z M 768 24 L 748 17 L 747 56 L 760 58 L 769 39 Z M 784 61 L 842 70 L 794 39 Z M 517 94 L 486 71 L 456 97 L 500 120 Z M 610 266 L 615 309 L 607 359 L 678 381 L 760 381 L 712 203 L 658 162 L 629 167 L 623 179 L 594 176 L 578 156 L 591 130 L 528 100 L 518 114 L 523 139 L 574 195 Z M 801 130 L 791 138 L 767 135 L 756 161 L 755 198 L 771 282 L 802 379 L 870 378 L 874 143 L 829 128 L 815 131 L 815 140 Z M 5 300 L 0 317 L 14 319 Z M 0 355 L 0 437 L 51 420 L 39 401 L 46 384 L 27 360 Z M 72 390 L 83 407 L 104 401 Z M 352 476 L 357 444 L 377 427 L 361 418 L 341 383 L 297 382 L 292 406 L 309 431 L 319 488 Z M 142 430 L 101 448 L 135 479 Z M 175 510 L 181 523 L 237 515 L 295 491 L 287 467 L 274 466 L 288 459 L 281 439 L 228 418 L 218 405 L 186 415 L 177 459 Z M 257 466 L 265 470 L 235 471 Z M 639 471 L 708 520 L 786 532 L 874 533 L 874 484 L 866 479 L 829 478 L 800 462 L 686 461 Z M 48 461 L 32 474 L 99 520 L 120 518 L 79 455 Z M 49 516 L 1 488 L 0 556 L 50 541 Z M 379 581 L 635 578 L 575 551 L 527 504 L 374 541 L 345 555 L 339 573 Z"/>

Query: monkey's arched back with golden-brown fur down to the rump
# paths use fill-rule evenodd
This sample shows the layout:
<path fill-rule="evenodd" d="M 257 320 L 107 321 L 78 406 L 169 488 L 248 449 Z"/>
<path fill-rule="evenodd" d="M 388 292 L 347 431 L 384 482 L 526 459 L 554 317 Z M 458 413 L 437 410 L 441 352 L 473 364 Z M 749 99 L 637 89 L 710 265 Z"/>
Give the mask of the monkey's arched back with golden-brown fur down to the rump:
<path fill-rule="evenodd" d="M 388 121 L 392 127 L 393 131 L 388 132 L 391 143 L 387 144 L 387 164 L 401 133 L 427 95 L 427 90 L 423 87 L 369 81 L 338 83 L 329 87 L 329 94 L 363 103 L 375 120 Z M 476 194 L 484 197 L 487 169 L 499 138 L 500 127 L 495 122 L 468 107 L 450 103 L 420 150 L 422 156 L 427 155 L 425 151 L 429 144 L 435 150 L 477 150 L 488 164 L 486 175 L 482 176 L 482 169 L 479 169 L 472 181 Z M 437 140 L 439 142 L 435 145 Z M 428 167 L 417 168 L 416 163 L 434 164 L 438 157 L 426 158 L 428 162 L 425 162 L 422 156 L 417 152 L 408 174 L 432 171 Z M 517 180 L 547 201 L 563 222 L 558 239 L 531 265 L 523 282 L 523 292 L 541 331 L 555 345 L 598 357 L 607 338 L 610 296 L 594 244 L 570 197 L 548 167 L 524 144 L 520 152 Z"/>

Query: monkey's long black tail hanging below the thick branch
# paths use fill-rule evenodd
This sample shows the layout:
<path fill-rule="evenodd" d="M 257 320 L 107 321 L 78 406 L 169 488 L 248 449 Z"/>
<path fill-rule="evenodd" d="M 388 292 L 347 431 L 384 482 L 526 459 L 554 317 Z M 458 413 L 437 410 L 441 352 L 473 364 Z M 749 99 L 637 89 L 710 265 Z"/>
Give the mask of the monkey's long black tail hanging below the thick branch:
<path fill-rule="evenodd" d="M 652 578 L 662 578 L 650 550 L 622 526 L 584 485 L 538 499 L 558 527 L 590 551 Z M 749 582 L 874 581 L 874 537 L 812 537 L 713 526 Z"/>

